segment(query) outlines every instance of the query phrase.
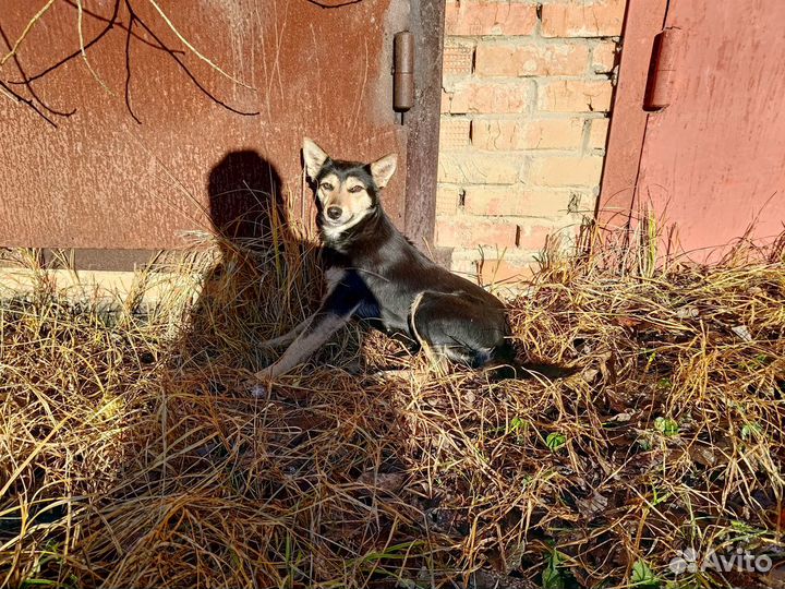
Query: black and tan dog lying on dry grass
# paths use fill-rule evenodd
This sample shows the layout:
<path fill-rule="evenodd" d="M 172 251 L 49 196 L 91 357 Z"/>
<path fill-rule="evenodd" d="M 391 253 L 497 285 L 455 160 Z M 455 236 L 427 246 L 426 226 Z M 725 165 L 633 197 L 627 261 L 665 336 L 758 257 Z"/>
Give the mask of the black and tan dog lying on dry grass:
<path fill-rule="evenodd" d="M 342 161 L 305 139 L 303 158 L 319 204 L 327 293 L 313 316 L 265 344 L 289 347 L 256 373 L 262 383 L 302 362 L 351 318 L 469 366 L 514 362 L 502 302 L 425 257 L 382 209 L 379 192 L 396 171 L 395 155 Z"/>

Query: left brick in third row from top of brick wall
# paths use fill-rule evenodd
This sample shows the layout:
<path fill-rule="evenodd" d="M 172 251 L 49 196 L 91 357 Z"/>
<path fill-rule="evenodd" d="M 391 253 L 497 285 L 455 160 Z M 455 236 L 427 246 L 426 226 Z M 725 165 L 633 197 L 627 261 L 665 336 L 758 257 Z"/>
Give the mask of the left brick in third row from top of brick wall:
<path fill-rule="evenodd" d="M 534 96 L 531 82 L 470 82 L 450 93 L 449 112 L 523 112 Z"/>

